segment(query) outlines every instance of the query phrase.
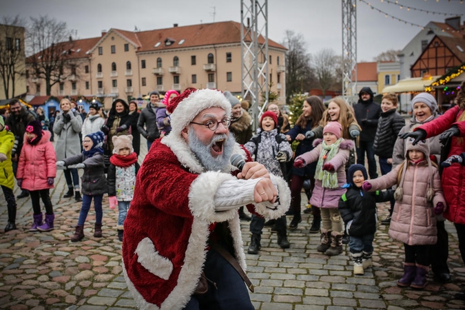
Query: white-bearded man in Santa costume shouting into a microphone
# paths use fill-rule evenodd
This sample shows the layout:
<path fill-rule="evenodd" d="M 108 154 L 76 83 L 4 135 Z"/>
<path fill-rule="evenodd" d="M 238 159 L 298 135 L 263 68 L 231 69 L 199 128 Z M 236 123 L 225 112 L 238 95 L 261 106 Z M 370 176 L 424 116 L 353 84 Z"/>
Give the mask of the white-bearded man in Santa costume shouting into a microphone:
<path fill-rule="evenodd" d="M 167 110 L 172 131 L 145 156 L 124 223 L 127 287 L 139 309 L 254 309 L 237 209 L 278 218 L 287 184 L 234 141 L 222 92 L 188 88 Z"/>

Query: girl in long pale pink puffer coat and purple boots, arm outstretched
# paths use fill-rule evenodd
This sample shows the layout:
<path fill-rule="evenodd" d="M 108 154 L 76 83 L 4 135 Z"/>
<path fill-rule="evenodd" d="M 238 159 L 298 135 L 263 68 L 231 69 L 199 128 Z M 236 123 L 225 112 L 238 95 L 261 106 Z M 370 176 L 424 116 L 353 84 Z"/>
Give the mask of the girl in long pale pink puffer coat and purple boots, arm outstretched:
<path fill-rule="evenodd" d="M 436 216 L 446 209 L 439 171 L 429 158 L 429 141 L 406 139 L 403 163 L 380 178 L 365 180 L 362 188 L 374 192 L 397 185 L 389 236 L 404 243 L 404 275 L 400 287 L 426 287 L 431 245 L 437 242 Z"/>

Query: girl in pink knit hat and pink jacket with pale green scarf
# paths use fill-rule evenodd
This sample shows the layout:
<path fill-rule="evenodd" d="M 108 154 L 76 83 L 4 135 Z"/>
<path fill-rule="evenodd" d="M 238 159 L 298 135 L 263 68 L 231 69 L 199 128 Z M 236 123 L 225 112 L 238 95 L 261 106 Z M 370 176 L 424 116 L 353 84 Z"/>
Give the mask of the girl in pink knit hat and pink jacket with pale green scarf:
<path fill-rule="evenodd" d="M 321 208 L 321 244 L 317 251 L 329 256 L 342 253 L 344 226 L 338 204 L 339 198 L 346 192 L 342 188 L 346 183 L 345 165 L 350 150 L 355 146 L 353 141 L 341 138 L 341 133 L 340 123 L 327 123 L 323 128 L 323 140 L 313 142 L 315 148 L 294 161 L 294 167 L 298 168 L 318 161 L 310 204 Z"/>

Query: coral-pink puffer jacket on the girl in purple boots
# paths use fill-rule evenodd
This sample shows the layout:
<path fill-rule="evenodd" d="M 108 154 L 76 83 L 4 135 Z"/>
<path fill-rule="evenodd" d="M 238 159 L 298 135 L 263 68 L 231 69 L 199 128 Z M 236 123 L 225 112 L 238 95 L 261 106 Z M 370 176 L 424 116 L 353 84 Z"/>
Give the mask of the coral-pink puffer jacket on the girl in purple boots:
<path fill-rule="evenodd" d="M 56 177 L 56 155 L 50 142 L 50 132 L 42 130 L 42 138 L 37 145 L 30 145 L 24 134 L 24 144 L 19 156 L 17 178 L 23 179 L 21 189 L 38 191 L 50 189 L 48 178 Z"/>

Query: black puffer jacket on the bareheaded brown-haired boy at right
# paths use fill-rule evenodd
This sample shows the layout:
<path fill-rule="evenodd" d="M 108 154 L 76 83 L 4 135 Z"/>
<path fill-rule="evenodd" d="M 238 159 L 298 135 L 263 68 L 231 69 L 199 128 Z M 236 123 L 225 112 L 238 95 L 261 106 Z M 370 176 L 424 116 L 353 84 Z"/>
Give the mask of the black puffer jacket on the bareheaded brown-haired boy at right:
<path fill-rule="evenodd" d="M 375 154 L 380 158 L 392 158 L 397 134 L 404 126 L 404 118 L 395 109 L 381 112 L 373 143 Z"/>

